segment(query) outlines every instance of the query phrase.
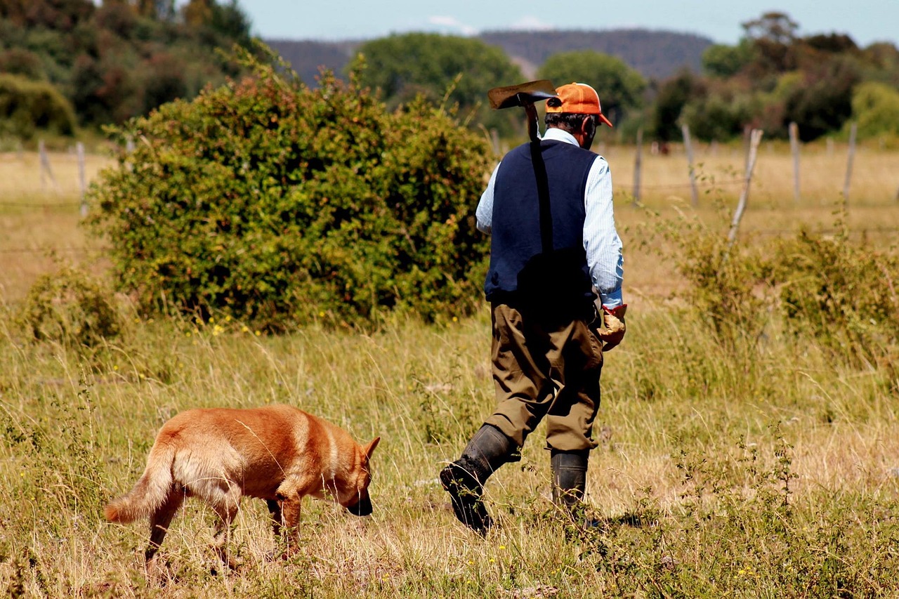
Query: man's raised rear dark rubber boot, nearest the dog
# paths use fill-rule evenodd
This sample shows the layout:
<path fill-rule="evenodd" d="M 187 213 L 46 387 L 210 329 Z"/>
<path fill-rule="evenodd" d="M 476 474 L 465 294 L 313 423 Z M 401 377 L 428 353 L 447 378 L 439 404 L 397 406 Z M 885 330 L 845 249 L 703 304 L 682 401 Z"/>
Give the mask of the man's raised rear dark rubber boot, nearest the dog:
<path fill-rule="evenodd" d="M 493 520 L 481 496 L 484 483 L 517 449 L 515 443 L 492 425 L 482 425 L 465 446 L 462 457 L 441 470 L 441 484 L 449 493 L 460 523 L 485 536 Z"/>

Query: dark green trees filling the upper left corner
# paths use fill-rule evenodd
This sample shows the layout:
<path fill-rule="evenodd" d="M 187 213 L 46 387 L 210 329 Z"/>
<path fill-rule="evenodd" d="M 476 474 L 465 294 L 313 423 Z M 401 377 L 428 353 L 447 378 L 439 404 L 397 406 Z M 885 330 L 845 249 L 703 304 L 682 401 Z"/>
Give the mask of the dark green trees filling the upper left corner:
<path fill-rule="evenodd" d="M 220 83 L 236 71 L 216 49 L 250 40 L 234 0 L 209 0 L 206 16 L 190 22 L 176 18 L 174 3 L 20 4 L 0 3 L 0 74 L 54 86 L 85 125 L 121 123 Z"/>

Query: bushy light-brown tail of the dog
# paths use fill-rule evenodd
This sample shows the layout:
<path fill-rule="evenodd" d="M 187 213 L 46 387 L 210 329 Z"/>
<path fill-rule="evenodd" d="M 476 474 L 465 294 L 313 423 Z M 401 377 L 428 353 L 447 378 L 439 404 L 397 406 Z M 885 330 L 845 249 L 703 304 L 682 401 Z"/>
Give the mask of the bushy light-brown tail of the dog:
<path fill-rule="evenodd" d="M 157 440 L 147 457 L 147 469 L 128 495 L 113 499 L 103 510 L 110 522 L 129 523 L 156 512 L 172 491 L 174 443 Z"/>

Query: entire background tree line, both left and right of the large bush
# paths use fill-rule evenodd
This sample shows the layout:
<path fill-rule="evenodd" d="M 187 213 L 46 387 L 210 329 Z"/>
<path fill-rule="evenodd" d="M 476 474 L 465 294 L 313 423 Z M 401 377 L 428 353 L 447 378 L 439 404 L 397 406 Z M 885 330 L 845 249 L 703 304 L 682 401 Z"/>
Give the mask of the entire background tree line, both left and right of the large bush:
<path fill-rule="evenodd" d="M 217 49 L 247 46 L 250 25 L 236 0 L 0 0 L 0 136 L 71 135 L 190 99 L 239 74 Z M 899 137 L 899 49 L 798 29 L 786 13 L 764 13 L 743 23 L 737 44 L 708 45 L 698 68 L 673 76 L 592 48 L 539 56 L 531 48 L 522 62 L 488 41 L 501 32 L 395 34 L 353 44 L 336 75 L 354 77 L 391 109 L 421 95 L 468 127 L 502 136 L 521 133 L 521 115 L 490 111 L 486 90 L 536 77 L 594 85 L 616 125 L 606 134 L 622 139 L 642 129 L 649 139 L 679 140 L 683 124 L 704 140 L 735 139 L 747 128 L 787 138 L 795 122 L 809 141 L 840 134 L 850 121 L 862 138 Z M 563 38 L 553 48 L 572 48 Z M 582 31 L 577 39 L 592 37 Z M 526 45 L 527 35 L 512 41 Z"/>

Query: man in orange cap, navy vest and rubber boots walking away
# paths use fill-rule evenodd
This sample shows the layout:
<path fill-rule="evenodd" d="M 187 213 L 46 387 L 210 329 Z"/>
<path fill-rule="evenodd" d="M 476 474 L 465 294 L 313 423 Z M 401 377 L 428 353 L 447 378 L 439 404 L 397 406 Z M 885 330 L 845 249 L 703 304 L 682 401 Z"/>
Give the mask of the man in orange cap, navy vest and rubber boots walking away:
<path fill-rule="evenodd" d="M 611 127 L 590 85 L 557 88 L 543 139 L 503 157 L 477 206 L 477 228 L 491 234 L 497 406 L 440 478 L 458 520 L 481 534 L 492 525 L 486 479 L 521 459 L 544 417 L 553 501 L 583 499 L 602 352 L 624 337 L 627 309 L 609 164 L 590 151 L 602 123 Z"/>

